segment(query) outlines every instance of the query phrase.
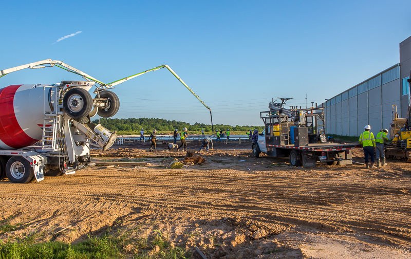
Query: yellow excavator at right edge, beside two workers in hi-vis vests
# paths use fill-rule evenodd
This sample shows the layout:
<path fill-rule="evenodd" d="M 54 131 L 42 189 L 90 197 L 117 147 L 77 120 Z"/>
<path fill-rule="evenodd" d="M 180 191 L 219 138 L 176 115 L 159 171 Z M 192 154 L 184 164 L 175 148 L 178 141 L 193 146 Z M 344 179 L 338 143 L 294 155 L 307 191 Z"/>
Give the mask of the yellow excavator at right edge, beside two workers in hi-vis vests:
<path fill-rule="evenodd" d="M 411 89 L 411 76 L 407 82 Z M 397 105 L 393 104 L 392 119 L 389 136 L 393 140 L 386 145 L 385 156 L 390 159 L 411 162 L 411 105 L 408 105 L 407 118 L 399 118 Z"/>

